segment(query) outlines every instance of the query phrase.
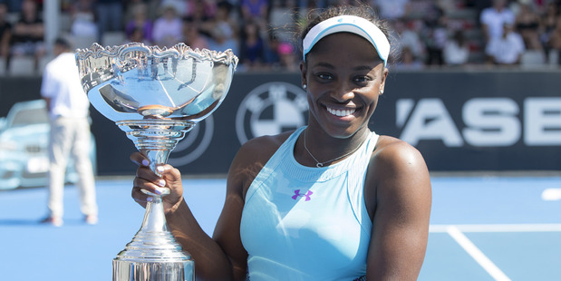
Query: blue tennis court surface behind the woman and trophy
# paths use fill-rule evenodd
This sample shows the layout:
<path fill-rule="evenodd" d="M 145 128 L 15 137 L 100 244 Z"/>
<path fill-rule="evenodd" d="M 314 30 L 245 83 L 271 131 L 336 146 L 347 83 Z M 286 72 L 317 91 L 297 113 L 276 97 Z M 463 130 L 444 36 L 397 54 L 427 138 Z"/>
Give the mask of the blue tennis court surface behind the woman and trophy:
<path fill-rule="evenodd" d="M 61 228 L 37 223 L 46 189 L 0 192 L 0 280 L 111 280 L 111 260 L 140 228 L 131 179 L 98 179 L 100 222 L 82 222 L 68 186 Z M 211 233 L 225 179 L 185 179 Z M 561 177 L 433 177 L 429 247 L 419 280 L 561 280 Z"/>

